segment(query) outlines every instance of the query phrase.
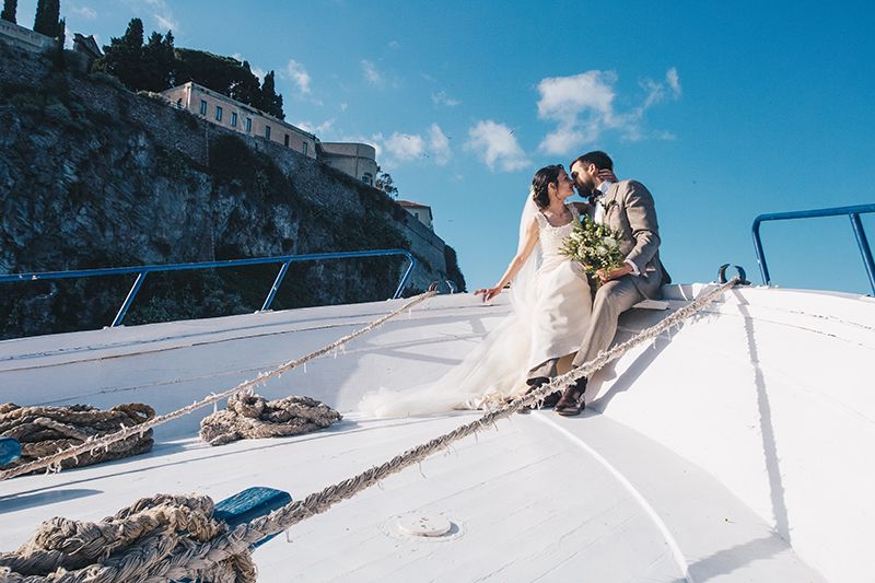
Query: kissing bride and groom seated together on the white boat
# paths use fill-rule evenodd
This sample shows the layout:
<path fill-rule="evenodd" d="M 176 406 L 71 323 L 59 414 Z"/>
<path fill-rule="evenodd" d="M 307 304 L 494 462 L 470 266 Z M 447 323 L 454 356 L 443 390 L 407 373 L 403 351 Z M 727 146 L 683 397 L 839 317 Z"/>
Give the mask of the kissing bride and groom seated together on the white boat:
<path fill-rule="evenodd" d="M 569 202 L 574 189 L 585 201 Z M 562 253 L 583 215 L 607 225 L 625 260 L 587 275 Z M 458 365 L 418 389 L 365 395 L 360 410 L 380 417 L 476 409 L 534 392 L 558 374 L 560 359 L 580 366 L 607 349 L 619 315 L 642 300 L 661 298 L 669 283 L 660 261 L 653 197 L 635 180 L 617 180 L 602 151 L 535 173 L 520 220 L 520 243 L 499 282 L 477 290 L 483 301 L 510 283 L 512 312 Z M 524 365 L 521 366 L 521 363 Z M 585 406 L 586 377 L 547 397 L 542 406 L 563 416 Z"/>

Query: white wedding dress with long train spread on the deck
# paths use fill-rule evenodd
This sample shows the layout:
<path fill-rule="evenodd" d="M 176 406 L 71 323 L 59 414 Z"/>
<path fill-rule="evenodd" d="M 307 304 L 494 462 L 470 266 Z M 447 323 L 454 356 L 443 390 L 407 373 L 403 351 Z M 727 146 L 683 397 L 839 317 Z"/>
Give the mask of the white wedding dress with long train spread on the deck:
<path fill-rule="evenodd" d="M 590 323 L 592 296 L 580 264 L 561 255 L 573 219 L 552 226 L 527 199 L 520 221 L 520 246 L 532 221 L 538 245 L 511 283 L 513 312 L 447 374 L 404 392 L 365 394 L 358 410 L 374 417 L 405 417 L 479 409 L 525 393 L 527 373 L 548 359 L 576 352 Z"/>

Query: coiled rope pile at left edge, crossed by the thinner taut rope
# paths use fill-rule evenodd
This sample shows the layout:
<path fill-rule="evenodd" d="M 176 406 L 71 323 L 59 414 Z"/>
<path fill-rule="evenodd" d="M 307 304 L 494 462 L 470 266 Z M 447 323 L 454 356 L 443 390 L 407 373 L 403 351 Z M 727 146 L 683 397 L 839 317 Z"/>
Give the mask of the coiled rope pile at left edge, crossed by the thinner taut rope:
<path fill-rule="evenodd" d="M 8 403 L 0 405 L 0 436 L 21 442 L 22 457 L 9 465 L 14 468 L 120 428 L 141 425 L 154 417 L 154 409 L 141 403 L 118 405 L 107 411 L 88 405 L 19 407 Z M 60 467 L 86 466 L 142 454 L 152 450 L 152 430 L 138 432 L 102 452 L 63 459 Z"/>

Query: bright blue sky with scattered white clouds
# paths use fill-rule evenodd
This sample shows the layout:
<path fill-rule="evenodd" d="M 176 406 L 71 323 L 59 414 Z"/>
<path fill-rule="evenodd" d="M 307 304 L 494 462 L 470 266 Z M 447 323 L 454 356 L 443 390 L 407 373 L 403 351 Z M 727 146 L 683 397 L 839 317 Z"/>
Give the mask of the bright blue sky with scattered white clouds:
<path fill-rule="evenodd" d="M 32 25 L 35 0 L 20 0 Z M 277 71 L 287 119 L 377 145 L 470 289 L 499 279 L 534 172 L 606 150 L 653 193 L 675 281 L 760 282 L 763 212 L 875 202 L 865 2 L 62 0 L 107 44 L 139 16 Z M 875 242 L 875 217 L 863 218 Z M 868 293 L 848 219 L 763 226 L 784 287 Z"/>

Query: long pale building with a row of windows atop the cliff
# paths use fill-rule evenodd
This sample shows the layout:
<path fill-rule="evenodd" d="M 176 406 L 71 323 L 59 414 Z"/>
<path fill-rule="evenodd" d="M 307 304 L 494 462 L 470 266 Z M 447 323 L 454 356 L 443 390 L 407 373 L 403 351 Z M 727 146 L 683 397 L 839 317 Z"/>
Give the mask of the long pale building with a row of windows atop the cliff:
<path fill-rule="evenodd" d="M 260 136 L 285 148 L 316 158 L 316 137 L 245 103 L 189 81 L 162 91 L 171 105 L 247 136 Z"/>

